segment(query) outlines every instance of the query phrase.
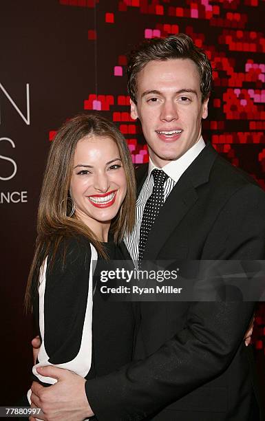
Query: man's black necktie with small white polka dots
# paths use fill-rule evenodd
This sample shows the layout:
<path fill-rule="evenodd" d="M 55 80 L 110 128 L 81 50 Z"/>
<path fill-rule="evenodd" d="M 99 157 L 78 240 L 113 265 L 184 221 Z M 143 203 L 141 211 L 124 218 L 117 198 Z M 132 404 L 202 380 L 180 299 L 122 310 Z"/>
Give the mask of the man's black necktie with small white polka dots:
<path fill-rule="evenodd" d="M 154 220 L 158 216 L 160 208 L 164 204 L 164 183 L 168 179 L 168 175 L 162 170 L 153 169 L 151 172 L 153 175 L 153 191 L 147 203 L 145 204 L 145 210 L 142 215 L 142 223 L 140 226 L 140 241 L 139 241 L 139 256 L 138 260 L 142 260 L 142 255 L 145 251 L 145 244 L 147 237 Z"/>

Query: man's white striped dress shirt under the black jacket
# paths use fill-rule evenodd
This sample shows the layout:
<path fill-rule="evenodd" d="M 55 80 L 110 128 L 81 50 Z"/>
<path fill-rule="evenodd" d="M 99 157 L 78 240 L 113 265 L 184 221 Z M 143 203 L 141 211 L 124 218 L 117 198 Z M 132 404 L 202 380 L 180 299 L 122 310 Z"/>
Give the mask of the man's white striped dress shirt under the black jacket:
<path fill-rule="evenodd" d="M 166 164 L 162 168 L 158 168 L 155 164 L 153 164 L 151 158 L 149 159 L 149 169 L 147 178 L 145 179 L 145 182 L 142 185 L 142 189 L 136 202 L 136 224 L 134 225 L 134 229 L 131 231 L 131 233 L 125 237 L 125 244 L 127 246 L 127 249 L 129 250 L 129 254 L 131 255 L 131 259 L 133 259 L 134 263 L 136 263 L 136 261 L 138 260 L 138 244 L 140 239 L 140 226 L 142 222 L 142 214 L 145 209 L 145 204 L 153 191 L 153 177 L 151 177 L 151 171 L 156 168 L 162 169 L 167 175 L 169 175 L 169 178 L 164 184 L 165 203 L 167 197 L 169 196 L 169 193 L 171 193 L 173 187 L 176 185 L 178 180 L 180 180 L 180 177 L 182 176 L 184 171 L 186 171 L 187 168 L 191 165 L 191 163 L 195 160 L 195 158 L 198 157 L 198 155 L 200 154 L 202 149 L 204 149 L 204 147 L 205 143 L 201 136 L 198 142 L 193 144 L 193 147 L 191 147 L 186 153 L 184 153 L 184 155 L 178 158 L 178 160 L 171 161 L 169 162 L 169 164 Z"/>

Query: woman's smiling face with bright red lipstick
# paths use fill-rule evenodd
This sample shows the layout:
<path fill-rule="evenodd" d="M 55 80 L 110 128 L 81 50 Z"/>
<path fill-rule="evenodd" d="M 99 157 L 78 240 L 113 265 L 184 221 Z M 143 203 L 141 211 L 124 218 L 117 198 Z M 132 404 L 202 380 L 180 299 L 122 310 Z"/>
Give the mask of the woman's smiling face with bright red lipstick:
<path fill-rule="evenodd" d="M 126 192 L 125 171 L 114 140 L 100 136 L 79 140 L 70 183 L 76 216 L 98 235 L 117 215 Z"/>

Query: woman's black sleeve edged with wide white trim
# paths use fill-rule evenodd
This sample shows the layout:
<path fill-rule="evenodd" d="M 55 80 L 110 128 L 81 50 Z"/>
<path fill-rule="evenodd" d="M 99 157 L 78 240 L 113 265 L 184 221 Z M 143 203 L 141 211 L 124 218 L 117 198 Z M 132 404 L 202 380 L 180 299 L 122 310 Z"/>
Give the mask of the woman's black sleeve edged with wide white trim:
<path fill-rule="evenodd" d="M 87 241 L 63 240 L 54 261 L 43 263 L 39 279 L 39 363 L 32 369 L 45 383 L 56 380 L 37 373 L 55 365 L 85 377 L 92 359 L 92 268 L 96 250 Z"/>

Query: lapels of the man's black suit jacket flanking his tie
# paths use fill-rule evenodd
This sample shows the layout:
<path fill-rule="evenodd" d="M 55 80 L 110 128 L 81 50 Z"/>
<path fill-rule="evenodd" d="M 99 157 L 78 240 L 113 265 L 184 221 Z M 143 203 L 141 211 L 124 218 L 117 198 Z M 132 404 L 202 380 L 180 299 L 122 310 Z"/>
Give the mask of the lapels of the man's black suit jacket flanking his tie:
<path fill-rule="evenodd" d="M 165 204 L 149 232 L 144 260 L 153 260 L 158 256 L 159 251 L 176 229 L 180 221 L 187 214 L 189 209 L 198 200 L 198 186 L 209 182 L 209 175 L 213 162 L 218 154 L 210 143 L 202 150 L 200 155 L 192 162 L 189 168 L 182 174 L 176 186 L 167 197 Z M 147 169 L 145 173 L 147 175 Z M 145 177 L 146 177 L 145 175 Z M 145 177 L 140 179 L 140 188 Z"/>

